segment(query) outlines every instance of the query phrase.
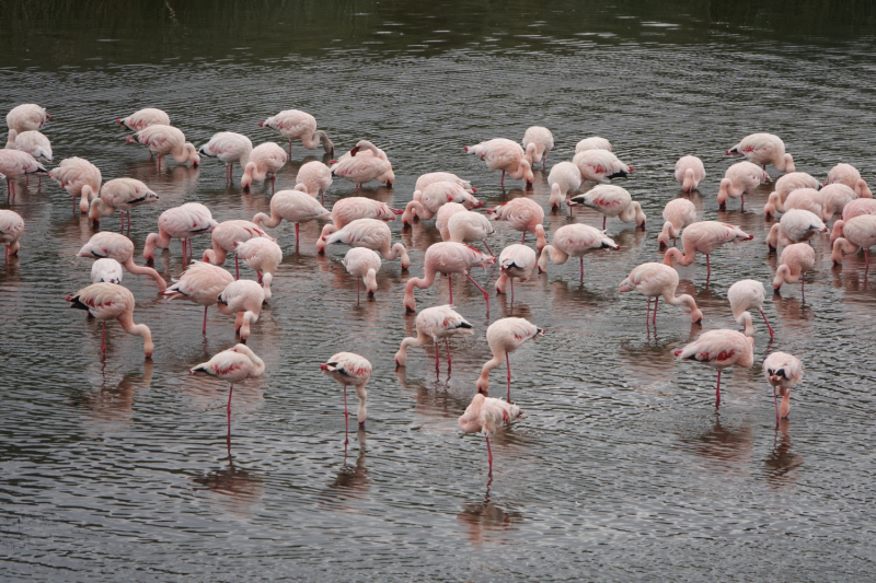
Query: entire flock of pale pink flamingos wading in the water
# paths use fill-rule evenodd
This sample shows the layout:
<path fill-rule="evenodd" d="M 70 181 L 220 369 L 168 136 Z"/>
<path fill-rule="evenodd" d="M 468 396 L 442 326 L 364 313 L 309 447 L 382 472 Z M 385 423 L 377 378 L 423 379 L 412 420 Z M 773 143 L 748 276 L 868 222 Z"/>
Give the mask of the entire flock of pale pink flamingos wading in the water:
<path fill-rule="evenodd" d="M 48 171 L 45 163 L 53 162 L 51 144 L 38 130 L 51 119 L 45 108 L 34 104 L 19 105 L 7 115 L 9 138 L 7 148 L 0 150 L 0 177 L 7 180 L 8 201 L 15 201 L 15 182 L 31 174 L 48 175 L 72 197 L 73 212 L 77 198 L 79 209 L 88 213 L 95 225 L 101 217 L 119 211 L 130 228 L 130 212 L 140 205 L 158 201 L 158 196 L 140 180 L 115 178 L 102 184 L 101 171 L 87 160 L 69 158 Z M 81 248 L 78 256 L 96 259 L 91 271 L 92 284 L 68 295 L 71 307 L 85 310 L 90 316 L 103 322 L 102 348 L 106 352 L 106 322 L 116 319 L 131 335 L 143 337 L 146 358 L 151 358 L 154 343 L 150 329 L 145 324 L 134 322 L 134 295 L 120 283 L 123 270 L 134 275 L 151 277 L 159 291 L 170 300 L 184 299 L 204 306 L 203 333 L 207 333 L 207 310 L 216 305 L 220 313 L 235 316 L 235 335 L 240 343 L 219 352 L 208 362 L 192 368 L 191 373 L 206 373 L 230 383 L 227 415 L 229 439 L 231 433 L 231 397 L 233 386 L 245 378 L 261 376 L 265 363 L 247 346 L 251 327 L 258 320 L 264 303 L 270 300 L 270 284 L 283 261 L 283 250 L 276 240 L 265 229 L 273 229 L 286 220 L 295 224 L 296 252 L 298 252 L 299 225 L 309 221 L 324 221 L 316 250 L 324 253 L 327 245 L 350 246 L 343 264 L 357 280 L 357 294 L 361 285 L 369 295 L 377 291 L 376 275 L 382 259 L 401 260 L 406 270 L 411 259 L 402 243 L 392 242 L 388 221 L 402 215 L 405 225 L 414 221 L 435 219 L 442 242 L 428 247 L 424 260 L 424 277 L 411 278 L 405 287 L 404 310 L 416 311 L 415 289 L 435 284 L 438 273 L 447 276 L 451 305 L 426 307 L 416 315 L 416 337 L 405 338 L 394 360 L 396 366 L 407 363 L 407 350 L 412 347 L 435 346 L 435 364 L 439 366 L 439 341 L 443 340 L 448 365 L 451 363 L 449 340 L 460 335 L 473 334 L 472 325 L 456 312 L 452 291 L 452 276 L 468 278 L 483 292 L 489 313 L 489 292 L 470 275 L 472 267 L 487 267 L 498 261 L 500 276 L 495 282 L 496 293 L 510 292 L 514 299 L 514 282 L 527 281 L 533 271 L 548 270 L 549 261 L 564 264 L 570 257 L 579 260 L 580 278 L 584 280 L 584 256 L 590 253 L 610 253 L 620 246 L 606 234 L 606 221 L 618 218 L 623 222 L 635 222 L 644 229 L 645 214 L 638 202 L 633 200 L 624 188 L 610 184 L 618 177 L 625 177 L 633 167 L 621 162 L 613 153 L 612 144 L 603 138 L 587 138 L 578 142 L 576 154 L 570 162 L 558 162 L 551 167 L 548 184 L 551 188 L 550 205 L 562 209 L 584 205 L 596 209 L 603 215 L 602 230 L 586 224 L 568 224 L 557 229 L 548 244 L 544 231 L 544 211 L 533 200 L 515 198 L 496 208 L 487 209 L 486 214 L 475 212 L 483 201 L 475 198 L 476 189 L 454 174 L 434 172 L 420 176 L 415 186 L 413 200 L 404 210 L 390 208 L 383 202 L 360 196 L 339 199 L 331 210 L 324 207 L 324 194 L 334 177 L 341 177 L 359 186 L 379 180 L 391 186 L 395 179 L 392 164 L 387 153 L 367 140 L 359 141 L 348 152 L 333 160 L 330 165 L 322 162 L 303 164 L 297 175 L 292 189 L 274 191 L 276 173 L 291 155 L 293 140 L 300 140 L 304 148 L 322 147 L 326 153 L 334 153 L 334 144 L 328 136 L 316 129 L 316 120 L 299 110 L 285 110 L 268 117 L 258 125 L 277 131 L 288 141 L 289 151 L 276 143 L 267 142 L 253 148 L 249 138 L 234 132 L 216 133 L 209 142 L 195 148 L 186 142 L 183 132 L 170 125 L 170 117 L 160 109 L 147 108 L 116 120 L 131 132 L 128 142 L 146 145 L 151 155 L 157 156 L 159 166 L 162 159 L 173 159 L 176 164 L 198 165 L 201 156 L 218 158 L 226 165 L 226 178 L 233 179 L 233 165 L 243 170 L 241 187 L 250 189 L 254 183 L 270 179 L 273 197 L 270 214 L 258 213 L 247 220 L 216 222 L 210 210 L 198 202 L 187 202 L 165 210 L 158 220 L 158 232 L 148 235 L 142 256 L 148 265 L 155 257 L 155 248 L 168 249 L 173 238 L 182 244 L 184 263 L 188 266 L 180 278 L 168 285 L 164 279 L 151 267 L 139 266 L 134 261 L 135 245 L 124 234 L 101 231 L 94 234 Z M 475 154 L 489 168 L 502 171 L 504 186 L 506 174 L 515 180 L 530 185 L 534 180 L 532 167 L 541 164 L 546 171 L 548 154 L 553 148 L 553 136 L 543 127 L 532 127 L 526 131 L 522 143 L 497 138 L 464 148 Z M 876 200 L 861 178 L 857 170 L 849 164 L 838 164 L 827 176 L 825 184 L 803 172 L 796 172 L 794 161 L 785 152 L 782 140 L 770 133 L 753 133 L 726 151 L 727 154 L 745 156 L 747 160 L 729 166 L 721 180 L 717 195 L 722 208 L 728 198 L 740 199 L 745 195 L 770 182 L 766 166 L 772 164 L 784 173 L 775 182 L 764 208 L 766 217 L 782 213 L 782 218 L 771 229 L 766 243 L 771 248 L 783 247 L 773 280 L 777 291 L 784 283 L 800 282 L 805 287 L 805 276 L 815 265 L 815 253 L 808 240 L 817 233 L 827 233 L 827 222 L 834 215 L 841 217 L 833 223 L 832 260 L 841 264 L 842 255 L 864 250 L 876 244 Z M 698 189 L 705 177 L 700 159 L 688 155 L 681 158 L 675 167 L 675 177 L 681 189 L 690 193 Z M 585 183 L 595 186 L 585 194 L 577 194 Z M 703 314 L 695 300 L 688 295 L 676 295 L 679 275 L 675 265 L 691 265 L 698 253 L 705 255 L 706 283 L 711 277 L 711 256 L 726 243 L 750 241 L 753 235 L 738 226 L 718 221 L 696 221 L 694 205 L 685 198 L 670 200 L 662 212 L 665 223 L 657 237 L 660 249 L 668 247 L 662 263 L 646 263 L 632 270 L 620 282 L 621 292 L 637 291 L 647 298 L 646 322 L 656 323 L 657 304 L 660 298 L 670 305 L 682 305 L 690 312 L 692 323 L 701 323 Z M 509 245 L 498 257 L 493 254 L 486 238 L 493 233 L 493 221 L 506 221 L 512 229 L 522 233 L 519 244 Z M 211 246 L 204 252 L 201 260 L 192 260 L 192 238 L 209 233 Z M 527 233 L 535 237 L 535 248 L 528 246 Z M 7 259 L 19 252 L 24 234 L 24 221 L 12 210 L 0 210 L 0 240 L 5 244 Z M 670 246 L 681 238 L 681 249 Z M 483 243 L 486 253 L 470 244 Z M 221 266 L 228 255 L 234 256 L 234 276 Z M 255 270 L 256 280 L 240 279 L 242 260 Z M 866 257 L 867 266 L 869 259 Z M 510 287 L 510 290 L 508 290 Z M 727 296 L 734 318 L 742 331 L 713 329 L 702 333 L 699 338 L 680 350 L 675 351 L 679 360 L 702 362 L 717 370 L 715 405 L 721 403 L 721 373 L 729 366 L 751 368 L 754 363 L 754 327 L 750 311 L 758 310 L 763 316 L 770 338 L 773 329 L 763 314 L 762 305 L 765 290 L 761 282 L 741 280 L 734 283 Z M 357 295 L 358 298 L 358 295 Z M 652 299 L 654 312 L 652 314 Z M 357 300 L 358 301 L 358 300 Z M 486 330 L 486 339 L 493 358 L 481 370 L 476 382 L 476 394 L 462 417 L 459 427 L 465 433 L 482 433 L 486 438 L 488 467 L 492 475 L 493 455 L 489 436 L 505 423 L 510 423 L 522 411 L 511 403 L 510 353 L 523 342 L 541 336 L 544 330 L 525 318 L 505 317 L 497 319 Z M 489 397 L 489 373 L 493 369 L 506 369 L 506 399 Z M 367 419 L 366 385 L 371 375 L 371 363 L 359 354 L 338 352 L 322 363 L 323 373 L 334 378 L 344 393 L 344 416 L 348 424 L 347 386 L 353 386 L 359 399 L 357 418 L 365 427 Z M 803 378 L 803 365 L 792 354 L 774 351 L 763 360 L 763 374 L 773 388 L 776 423 L 788 416 L 791 389 Z M 781 406 L 777 397 L 782 397 Z M 348 428 L 347 428 L 348 429 Z"/>

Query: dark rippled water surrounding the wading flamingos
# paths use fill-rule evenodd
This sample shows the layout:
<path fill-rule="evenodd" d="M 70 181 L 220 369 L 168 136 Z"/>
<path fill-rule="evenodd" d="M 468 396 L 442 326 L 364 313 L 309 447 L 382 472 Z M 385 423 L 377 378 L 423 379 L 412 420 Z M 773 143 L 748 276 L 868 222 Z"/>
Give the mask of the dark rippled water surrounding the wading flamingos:
<path fill-rule="evenodd" d="M 262 187 L 226 186 L 212 160 L 159 172 L 110 123 L 145 106 L 168 110 L 196 144 L 220 130 L 281 141 L 255 123 L 308 110 L 339 149 L 368 138 L 388 152 L 394 188 L 366 195 L 396 207 L 419 174 L 441 170 L 471 179 L 491 205 L 528 196 L 546 209 L 545 173 L 530 191 L 511 182 L 503 193 L 498 173 L 461 145 L 544 125 L 555 163 L 579 139 L 603 136 L 636 167 L 619 184 L 643 203 L 648 230 L 610 221 L 622 250 L 589 256 L 583 285 L 572 261 L 516 285 L 512 308 L 492 299 L 489 322 L 523 316 L 549 333 L 512 357 L 527 418 L 496 435 L 487 482 L 483 439 L 457 429 L 489 358 L 473 287 L 457 285 L 477 334 L 456 343 L 452 375 L 436 380 L 431 350 L 412 351 L 396 373 L 392 355 L 413 331 L 397 263 L 383 264 L 377 299 L 357 306 L 345 247 L 315 256 L 319 225 L 309 224 L 296 256 L 292 229 L 275 230 L 286 258 L 250 340 L 267 373 L 234 390 L 229 460 L 227 385 L 186 371 L 234 343 L 231 319 L 211 311 L 203 339 L 197 306 L 161 301 L 151 281 L 126 275 L 154 360 L 143 362 L 141 340 L 117 325 L 102 360 L 100 327 L 64 302 L 89 282 L 91 263 L 74 254 L 92 229 L 66 193 L 32 183 L 11 207 L 26 221 L 20 258 L 0 272 L 0 579 L 873 580 L 876 287 L 863 257 L 831 268 L 827 240 L 815 241 L 805 302 L 794 285 L 768 301 L 775 340 L 756 323 L 756 365 L 724 376 L 719 416 L 714 372 L 671 355 L 700 328 L 671 308 L 646 328 L 644 299 L 616 292 L 633 267 L 659 258 L 680 155 L 705 162 L 693 198 L 702 217 L 756 236 L 713 256 L 708 287 L 702 259 L 679 269 L 703 329 L 735 328 L 727 288 L 768 283 L 776 263 L 760 212 L 769 186 L 745 212 L 738 201 L 717 210 L 731 162 L 724 149 L 771 131 L 798 170 L 823 178 L 849 162 L 872 184 L 869 4 L 175 4 L 0 2 L 0 113 L 48 107 L 56 163 L 80 155 L 105 179 L 132 176 L 159 193 L 131 213 L 138 250 L 166 208 L 197 200 L 218 220 L 251 219 L 269 200 Z M 312 154 L 296 147 L 277 187 L 290 187 Z M 326 202 L 351 193 L 337 180 Z M 570 220 L 600 222 L 564 211 L 545 228 Z M 104 219 L 117 228 L 118 215 Z M 431 221 L 392 229 L 419 276 L 439 240 Z M 497 231 L 494 248 L 519 238 Z M 198 253 L 206 245 L 196 240 Z M 178 243 L 157 264 L 177 276 Z M 473 275 L 492 285 L 498 273 Z M 418 305 L 446 294 L 418 291 Z M 350 435 L 346 462 L 341 394 L 318 366 L 341 350 L 374 365 L 368 431 Z M 806 370 L 779 430 L 759 373 L 769 350 L 798 355 Z M 503 376 L 493 374 L 497 394 Z"/>

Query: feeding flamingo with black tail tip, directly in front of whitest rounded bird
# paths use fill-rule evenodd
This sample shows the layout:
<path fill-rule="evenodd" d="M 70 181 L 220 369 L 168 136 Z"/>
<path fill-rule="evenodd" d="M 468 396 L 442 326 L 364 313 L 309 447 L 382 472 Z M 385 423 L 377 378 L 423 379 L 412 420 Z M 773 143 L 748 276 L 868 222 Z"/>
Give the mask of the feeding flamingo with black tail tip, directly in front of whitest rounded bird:
<path fill-rule="evenodd" d="M 70 307 L 87 310 L 89 314 L 103 323 L 101 350 L 106 355 L 106 320 L 117 319 L 122 328 L 131 336 L 143 337 L 143 353 L 152 358 L 154 345 L 152 333 L 146 324 L 134 324 L 134 294 L 127 288 L 116 283 L 92 283 L 78 292 L 67 295 Z"/>

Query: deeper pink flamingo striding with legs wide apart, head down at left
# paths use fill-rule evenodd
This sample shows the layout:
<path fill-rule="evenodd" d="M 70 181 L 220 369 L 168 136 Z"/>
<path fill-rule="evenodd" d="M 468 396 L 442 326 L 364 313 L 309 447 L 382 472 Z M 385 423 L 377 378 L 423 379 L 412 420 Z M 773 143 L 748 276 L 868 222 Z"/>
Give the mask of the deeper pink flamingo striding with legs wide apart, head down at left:
<path fill-rule="evenodd" d="M 437 273 L 446 273 L 447 284 L 450 289 L 450 303 L 453 303 L 453 281 L 452 273 L 462 273 L 469 281 L 481 290 L 484 294 L 486 302 L 486 310 L 489 312 L 489 293 L 477 284 L 474 279 L 469 275 L 472 267 L 481 266 L 486 271 L 486 268 L 496 263 L 496 258 L 489 255 L 484 255 L 477 249 L 473 249 L 462 243 L 453 243 L 446 241 L 442 243 L 435 243 L 426 249 L 426 257 L 423 261 L 423 278 L 411 278 L 407 280 L 404 291 L 404 307 L 407 312 L 416 312 L 416 302 L 414 300 L 414 288 L 420 290 L 430 288 L 435 283 L 435 276 Z"/>

